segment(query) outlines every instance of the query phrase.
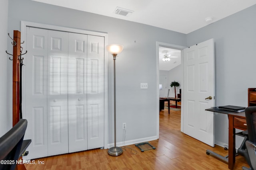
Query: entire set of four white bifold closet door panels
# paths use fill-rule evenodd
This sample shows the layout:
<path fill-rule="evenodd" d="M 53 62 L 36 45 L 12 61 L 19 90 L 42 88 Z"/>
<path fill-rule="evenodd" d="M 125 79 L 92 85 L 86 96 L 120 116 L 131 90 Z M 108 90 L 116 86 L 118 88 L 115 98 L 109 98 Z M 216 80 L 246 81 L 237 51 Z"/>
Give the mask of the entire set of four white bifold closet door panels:
<path fill-rule="evenodd" d="M 104 146 L 104 37 L 27 27 L 26 159 Z"/>

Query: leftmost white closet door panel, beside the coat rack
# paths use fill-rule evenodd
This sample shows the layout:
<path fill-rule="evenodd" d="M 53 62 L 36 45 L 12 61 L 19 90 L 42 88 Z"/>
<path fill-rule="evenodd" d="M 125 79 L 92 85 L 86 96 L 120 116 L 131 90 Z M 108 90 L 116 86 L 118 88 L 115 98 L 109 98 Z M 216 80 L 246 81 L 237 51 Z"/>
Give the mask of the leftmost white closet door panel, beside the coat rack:
<path fill-rule="evenodd" d="M 45 29 L 26 28 L 24 59 L 24 119 L 28 120 L 25 139 L 32 139 L 26 159 L 48 156 L 47 151 L 47 39 Z"/>

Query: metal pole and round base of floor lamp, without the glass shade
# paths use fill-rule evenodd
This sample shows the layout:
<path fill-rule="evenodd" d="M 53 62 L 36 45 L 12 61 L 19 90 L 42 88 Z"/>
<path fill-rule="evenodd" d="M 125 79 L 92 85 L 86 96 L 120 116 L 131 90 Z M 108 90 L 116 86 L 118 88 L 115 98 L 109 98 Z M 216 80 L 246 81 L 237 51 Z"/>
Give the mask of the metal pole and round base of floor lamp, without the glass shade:
<path fill-rule="evenodd" d="M 119 156 L 123 153 L 122 148 L 116 147 L 116 56 L 117 54 L 112 54 L 114 60 L 114 147 L 108 149 L 108 154 L 111 156 Z"/>

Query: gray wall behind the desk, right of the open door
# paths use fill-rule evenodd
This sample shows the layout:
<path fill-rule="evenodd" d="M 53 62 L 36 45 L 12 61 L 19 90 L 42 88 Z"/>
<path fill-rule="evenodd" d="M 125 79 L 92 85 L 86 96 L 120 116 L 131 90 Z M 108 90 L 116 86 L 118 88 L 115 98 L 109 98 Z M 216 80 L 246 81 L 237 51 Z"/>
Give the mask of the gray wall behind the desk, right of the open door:
<path fill-rule="evenodd" d="M 216 106 L 248 106 L 247 90 L 256 87 L 255 16 L 256 5 L 187 35 L 188 46 L 215 40 Z M 227 117 L 215 118 L 215 141 L 227 144 Z"/>

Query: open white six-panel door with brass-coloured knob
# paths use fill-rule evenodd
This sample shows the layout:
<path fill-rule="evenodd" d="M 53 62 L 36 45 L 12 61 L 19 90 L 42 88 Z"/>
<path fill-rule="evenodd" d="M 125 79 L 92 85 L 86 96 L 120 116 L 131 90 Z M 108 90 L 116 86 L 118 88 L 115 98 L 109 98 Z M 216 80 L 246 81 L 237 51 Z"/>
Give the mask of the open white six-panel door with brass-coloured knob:
<path fill-rule="evenodd" d="M 214 78 L 214 39 L 184 49 L 184 133 L 212 147 Z"/>

